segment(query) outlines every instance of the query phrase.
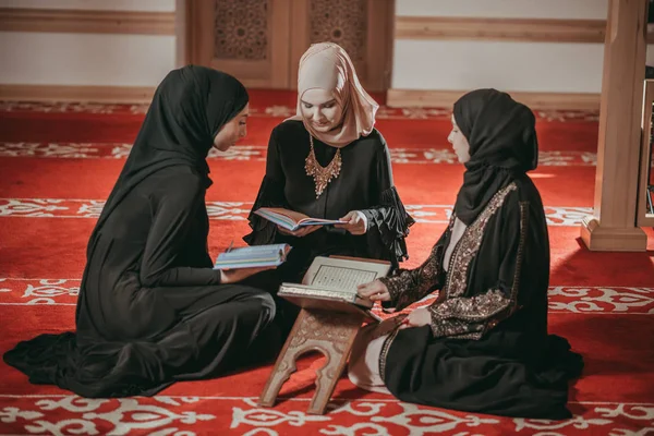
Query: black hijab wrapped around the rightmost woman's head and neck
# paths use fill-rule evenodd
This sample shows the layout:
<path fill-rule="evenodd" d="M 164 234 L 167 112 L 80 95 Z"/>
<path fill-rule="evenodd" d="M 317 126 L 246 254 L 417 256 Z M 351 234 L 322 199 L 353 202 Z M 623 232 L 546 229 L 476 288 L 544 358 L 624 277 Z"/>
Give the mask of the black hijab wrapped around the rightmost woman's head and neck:
<path fill-rule="evenodd" d="M 465 94 L 453 114 L 470 144 L 455 213 L 470 226 L 496 192 L 536 168 L 536 120 L 530 108 L 497 89 Z"/>

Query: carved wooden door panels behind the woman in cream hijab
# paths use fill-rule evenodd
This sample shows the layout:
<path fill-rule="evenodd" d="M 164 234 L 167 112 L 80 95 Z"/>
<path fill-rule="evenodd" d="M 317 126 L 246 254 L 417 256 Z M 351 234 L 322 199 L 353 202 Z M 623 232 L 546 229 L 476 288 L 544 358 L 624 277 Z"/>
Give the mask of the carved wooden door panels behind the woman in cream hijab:
<path fill-rule="evenodd" d="M 250 87 L 293 89 L 302 53 L 330 40 L 348 51 L 366 88 L 385 90 L 392 20 L 392 0 L 187 0 L 187 59 Z"/>

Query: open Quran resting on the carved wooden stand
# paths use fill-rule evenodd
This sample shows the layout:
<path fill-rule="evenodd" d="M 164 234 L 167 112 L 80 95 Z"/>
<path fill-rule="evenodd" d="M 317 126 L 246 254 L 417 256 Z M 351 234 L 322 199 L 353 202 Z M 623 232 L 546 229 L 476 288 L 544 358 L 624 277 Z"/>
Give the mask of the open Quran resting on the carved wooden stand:
<path fill-rule="evenodd" d="M 304 275 L 302 283 L 282 283 L 279 296 L 303 307 L 334 312 L 370 312 L 373 302 L 361 298 L 359 284 L 368 283 L 390 271 L 390 263 L 358 257 L 318 256 Z"/>

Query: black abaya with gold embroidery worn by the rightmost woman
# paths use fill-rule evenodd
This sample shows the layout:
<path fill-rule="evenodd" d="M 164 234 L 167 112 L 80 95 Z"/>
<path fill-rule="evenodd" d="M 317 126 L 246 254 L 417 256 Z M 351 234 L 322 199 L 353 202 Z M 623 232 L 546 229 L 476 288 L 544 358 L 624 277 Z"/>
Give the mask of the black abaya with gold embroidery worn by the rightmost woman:
<path fill-rule="evenodd" d="M 465 229 L 449 272 L 451 228 L 417 269 L 386 279 L 401 310 L 440 289 L 431 326 L 400 329 L 379 360 L 400 400 L 509 416 L 569 417 L 579 355 L 547 335 L 549 252 L 540 196 L 525 177 L 499 191 Z"/>

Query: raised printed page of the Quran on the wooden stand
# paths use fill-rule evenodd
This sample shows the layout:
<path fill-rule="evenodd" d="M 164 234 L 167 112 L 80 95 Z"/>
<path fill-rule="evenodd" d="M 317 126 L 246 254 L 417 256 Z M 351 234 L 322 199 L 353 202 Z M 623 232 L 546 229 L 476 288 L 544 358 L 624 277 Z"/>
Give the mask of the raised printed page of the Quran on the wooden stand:
<path fill-rule="evenodd" d="M 384 277 L 389 269 L 390 265 L 386 263 L 318 256 L 306 271 L 303 283 L 355 293 L 359 284 Z"/>

